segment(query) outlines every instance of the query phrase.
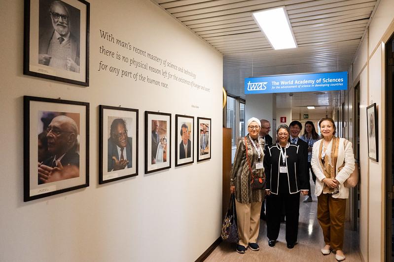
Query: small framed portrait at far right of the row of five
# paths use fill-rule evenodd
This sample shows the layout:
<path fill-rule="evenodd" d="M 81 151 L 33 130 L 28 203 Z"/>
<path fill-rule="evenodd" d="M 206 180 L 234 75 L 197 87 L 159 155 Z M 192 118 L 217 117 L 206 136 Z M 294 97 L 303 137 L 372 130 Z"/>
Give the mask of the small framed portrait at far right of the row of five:
<path fill-rule="evenodd" d="M 211 118 L 197 117 L 197 162 L 211 159 Z"/>

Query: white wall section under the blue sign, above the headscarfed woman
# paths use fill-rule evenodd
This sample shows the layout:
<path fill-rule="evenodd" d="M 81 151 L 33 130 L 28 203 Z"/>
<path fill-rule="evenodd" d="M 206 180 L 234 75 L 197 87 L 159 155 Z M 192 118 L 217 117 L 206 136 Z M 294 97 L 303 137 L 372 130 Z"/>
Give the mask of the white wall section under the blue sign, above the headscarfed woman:
<path fill-rule="evenodd" d="M 276 95 L 275 94 L 255 94 L 246 95 L 246 111 L 245 119 L 248 121 L 251 117 L 257 117 L 258 119 L 266 119 L 270 122 L 273 127 L 273 119 L 276 115 Z M 278 123 L 278 120 L 277 120 Z M 271 128 L 270 135 L 274 128 Z M 246 132 L 248 127 L 246 127 Z"/>

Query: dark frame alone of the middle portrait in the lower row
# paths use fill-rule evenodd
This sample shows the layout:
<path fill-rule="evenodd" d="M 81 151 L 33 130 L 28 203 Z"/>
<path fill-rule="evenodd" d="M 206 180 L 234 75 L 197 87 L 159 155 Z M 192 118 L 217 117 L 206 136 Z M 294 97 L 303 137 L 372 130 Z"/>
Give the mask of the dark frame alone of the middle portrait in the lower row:
<path fill-rule="evenodd" d="M 170 135 L 167 137 L 167 145 L 169 146 L 169 148 L 167 149 L 167 161 L 168 161 L 168 166 L 166 167 L 161 167 L 161 168 L 157 168 L 157 169 L 152 169 L 148 171 L 148 161 L 150 161 L 151 159 L 151 155 L 148 154 L 148 139 L 151 139 L 150 135 L 151 133 L 148 133 L 148 115 L 164 115 L 164 116 L 168 116 L 169 118 L 169 126 L 167 126 L 169 128 L 169 133 Z M 153 173 L 153 172 L 157 172 L 160 170 L 164 170 L 164 169 L 169 169 L 171 168 L 171 144 L 172 144 L 172 140 L 171 140 L 171 114 L 170 113 L 162 113 L 162 112 L 153 112 L 153 111 L 145 111 L 145 174 L 149 174 L 149 173 Z M 149 152 L 150 153 L 150 152 Z"/>

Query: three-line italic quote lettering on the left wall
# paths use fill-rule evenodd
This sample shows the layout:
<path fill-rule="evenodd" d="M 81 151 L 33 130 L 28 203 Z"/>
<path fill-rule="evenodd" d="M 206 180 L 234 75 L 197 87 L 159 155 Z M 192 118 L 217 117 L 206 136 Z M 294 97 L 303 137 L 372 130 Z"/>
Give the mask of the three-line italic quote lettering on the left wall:
<path fill-rule="evenodd" d="M 192 70 L 136 47 L 113 33 L 100 30 L 100 37 L 105 40 L 99 48 L 99 54 L 104 58 L 100 60 L 97 71 L 166 89 L 170 88 L 171 83 L 179 82 L 196 90 L 211 92 L 209 87 L 196 82 L 197 75 Z M 119 47 L 122 52 L 118 51 Z M 123 62 L 124 67 L 113 66 L 111 59 Z"/>

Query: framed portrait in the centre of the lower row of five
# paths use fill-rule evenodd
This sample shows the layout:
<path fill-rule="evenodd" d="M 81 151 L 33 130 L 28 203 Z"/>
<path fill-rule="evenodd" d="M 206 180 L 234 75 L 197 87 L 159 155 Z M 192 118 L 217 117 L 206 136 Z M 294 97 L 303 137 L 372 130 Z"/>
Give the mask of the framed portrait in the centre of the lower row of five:
<path fill-rule="evenodd" d="M 145 174 L 171 168 L 171 114 L 145 111 Z"/>

